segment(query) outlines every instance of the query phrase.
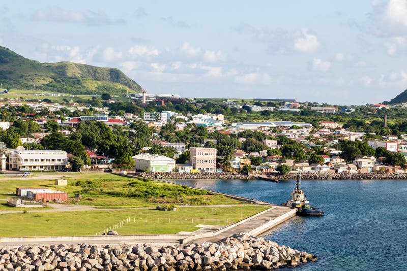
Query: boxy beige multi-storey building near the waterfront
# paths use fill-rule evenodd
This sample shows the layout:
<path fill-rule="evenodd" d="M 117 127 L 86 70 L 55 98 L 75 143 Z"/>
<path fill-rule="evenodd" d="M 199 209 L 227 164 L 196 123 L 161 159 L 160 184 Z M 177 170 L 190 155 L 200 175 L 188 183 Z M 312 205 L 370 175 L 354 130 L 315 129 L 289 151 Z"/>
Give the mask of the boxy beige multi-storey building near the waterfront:
<path fill-rule="evenodd" d="M 215 148 L 189 148 L 189 163 L 194 170 L 216 172 Z"/>

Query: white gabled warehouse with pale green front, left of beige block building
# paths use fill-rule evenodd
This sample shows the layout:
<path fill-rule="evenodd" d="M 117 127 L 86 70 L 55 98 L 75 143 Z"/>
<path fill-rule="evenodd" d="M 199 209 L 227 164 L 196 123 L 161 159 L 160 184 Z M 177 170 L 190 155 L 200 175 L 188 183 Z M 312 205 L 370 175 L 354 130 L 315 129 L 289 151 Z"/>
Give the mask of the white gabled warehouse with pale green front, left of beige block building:
<path fill-rule="evenodd" d="M 140 153 L 131 158 L 136 171 L 172 172 L 175 168 L 175 159 L 164 155 Z"/>

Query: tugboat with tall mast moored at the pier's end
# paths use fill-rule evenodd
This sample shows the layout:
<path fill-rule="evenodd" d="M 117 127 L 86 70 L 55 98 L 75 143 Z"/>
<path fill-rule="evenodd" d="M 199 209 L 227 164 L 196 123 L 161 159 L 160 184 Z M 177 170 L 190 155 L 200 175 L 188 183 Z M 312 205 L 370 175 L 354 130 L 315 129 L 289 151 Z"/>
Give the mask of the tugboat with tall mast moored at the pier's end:
<path fill-rule="evenodd" d="M 291 198 L 288 199 L 285 206 L 289 208 L 297 209 L 297 216 L 323 216 L 324 211 L 319 210 L 319 208 L 314 208 L 309 206 L 309 201 L 304 191 L 301 190 L 300 175 L 297 175 L 296 188 L 291 193 Z"/>

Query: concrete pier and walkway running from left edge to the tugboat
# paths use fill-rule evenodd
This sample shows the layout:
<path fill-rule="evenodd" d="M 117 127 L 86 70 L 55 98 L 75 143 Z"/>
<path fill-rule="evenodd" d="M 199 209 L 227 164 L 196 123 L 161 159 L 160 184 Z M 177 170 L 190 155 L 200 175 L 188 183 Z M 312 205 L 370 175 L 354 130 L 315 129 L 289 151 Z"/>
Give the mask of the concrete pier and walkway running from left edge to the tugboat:
<path fill-rule="evenodd" d="M 55 245 L 55 244 L 187 244 L 218 242 L 227 236 L 239 232 L 248 232 L 258 235 L 274 226 L 295 216 L 296 210 L 284 206 L 272 206 L 271 208 L 243 219 L 237 223 L 223 228 L 205 225 L 194 232 L 182 232 L 179 234 L 144 234 L 144 235 L 91 235 L 91 236 L 44 236 L 44 237 L 2 237 L 0 247 L 21 245 Z"/>

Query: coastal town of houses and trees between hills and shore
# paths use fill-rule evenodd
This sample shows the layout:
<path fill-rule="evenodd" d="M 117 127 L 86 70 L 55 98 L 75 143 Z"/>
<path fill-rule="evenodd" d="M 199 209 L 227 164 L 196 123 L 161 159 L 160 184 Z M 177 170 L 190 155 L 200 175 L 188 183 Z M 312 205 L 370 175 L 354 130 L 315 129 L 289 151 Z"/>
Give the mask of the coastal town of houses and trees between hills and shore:
<path fill-rule="evenodd" d="M 190 173 L 191 178 L 194 173 L 405 173 L 407 134 L 397 131 L 398 135 L 392 135 L 386 114 L 386 110 L 403 108 L 403 104 L 338 109 L 273 98 L 205 103 L 146 91 L 132 94 L 125 101 L 108 93 L 82 103 L 68 96 L 57 102 L 50 98 L 2 98 L 2 172 L 115 170 Z M 207 112 L 208 106 L 219 108 L 215 111 L 221 113 L 234 112 L 242 119 L 247 112 L 261 116 L 276 111 L 288 113 L 286 119 L 278 121 L 231 122 L 224 114 Z M 189 113 L 185 108 L 201 113 Z M 355 109 L 382 112 L 384 118 L 378 124 L 381 134 L 324 120 L 327 116 L 352 114 Z M 140 116 L 130 110 L 139 111 Z M 289 112 L 305 111 L 314 112 L 313 124 L 289 121 L 293 118 Z M 108 143 L 89 139 L 89 127 L 107 129 L 116 137 L 114 140 L 125 141 L 116 145 L 122 150 L 113 149 L 112 144 L 117 142 L 103 146 Z M 95 137 L 97 131 L 93 131 Z"/>

